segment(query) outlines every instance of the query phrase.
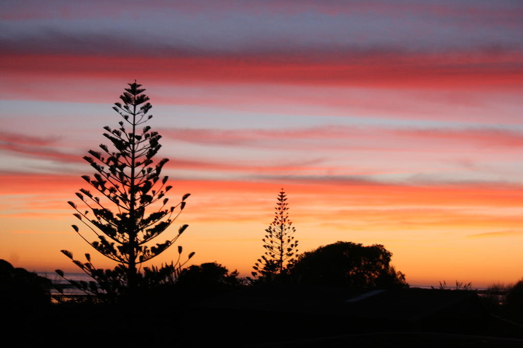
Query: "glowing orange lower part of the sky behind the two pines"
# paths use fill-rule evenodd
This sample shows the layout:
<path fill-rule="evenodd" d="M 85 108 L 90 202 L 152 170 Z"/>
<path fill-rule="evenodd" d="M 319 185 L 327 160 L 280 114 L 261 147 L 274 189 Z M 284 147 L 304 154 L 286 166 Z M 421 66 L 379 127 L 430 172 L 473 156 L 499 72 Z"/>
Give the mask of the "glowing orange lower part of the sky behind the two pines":
<path fill-rule="evenodd" d="M 0 253 L 29 269 L 75 271 L 58 250 L 67 248 L 78 257 L 93 253 L 70 228 L 75 218 L 65 204 L 76 187 L 85 186 L 82 179 L 26 175 L 5 180 L 11 185 L 0 191 Z M 196 251 L 193 261 L 218 261 L 247 274 L 262 252 L 260 238 L 272 220 L 278 186 L 237 181 L 172 184 L 171 192 L 179 196 L 191 193 L 179 218 L 189 229 L 178 242 L 186 251 Z M 411 284 L 457 279 L 484 286 L 519 278 L 519 187 L 295 183 L 287 184 L 286 191 L 302 250 L 338 240 L 381 243 Z M 176 198 L 174 193 L 170 196 Z M 157 262 L 170 260 L 173 253 L 167 251 Z M 95 260 L 100 267 L 111 266 L 101 256 Z"/>

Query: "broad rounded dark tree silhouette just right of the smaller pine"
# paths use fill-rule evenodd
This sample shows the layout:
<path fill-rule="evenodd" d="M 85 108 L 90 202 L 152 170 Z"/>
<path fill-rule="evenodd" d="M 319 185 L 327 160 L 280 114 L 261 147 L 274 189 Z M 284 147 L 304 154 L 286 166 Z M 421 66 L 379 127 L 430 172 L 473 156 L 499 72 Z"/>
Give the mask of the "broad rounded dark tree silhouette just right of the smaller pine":
<path fill-rule="evenodd" d="M 390 265 L 383 245 L 336 242 L 299 256 L 292 274 L 303 284 L 349 287 L 408 287 L 405 275 Z"/>

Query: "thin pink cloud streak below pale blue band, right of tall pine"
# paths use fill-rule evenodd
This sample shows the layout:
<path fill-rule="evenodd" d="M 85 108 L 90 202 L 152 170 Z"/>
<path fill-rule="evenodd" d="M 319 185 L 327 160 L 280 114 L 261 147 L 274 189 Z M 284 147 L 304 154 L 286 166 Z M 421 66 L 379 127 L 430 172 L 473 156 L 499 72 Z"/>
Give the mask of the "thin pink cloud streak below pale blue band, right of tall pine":
<path fill-rule="evenodd" d="M 383 127 L 350 127 L 350 126 L 319 126 L 309 128 L 288 129 L 160 129 L 164 137 L 203 145 L 247 146 L 267 148 L 292 148 L 310 150 L 317 149 L 387 149 L 402 147 L 412 148 L 415 141 L 418 145 L 427 143 L 439 147 L 454 147 L 457 145 L 470 147 L 495 147 L 519 149 L 523 146 L 523 133 L 506 129 L 476 128 L 476 129 L 445 129 L 445 128 L 383 128 Z M 316 142 L 309 146 L 304 142 L 294 140 L 342 140 L 338 142 Z M 379 139 L 379 140 L 377 140 Z M 343 142 L 343 140 L 347 140 Z M 345 145 L 344 145 L 345 143 Z M 419 146 L 418 151 L 424 147 Z M 428 148 L 427 150 L 430 150 Z"/>

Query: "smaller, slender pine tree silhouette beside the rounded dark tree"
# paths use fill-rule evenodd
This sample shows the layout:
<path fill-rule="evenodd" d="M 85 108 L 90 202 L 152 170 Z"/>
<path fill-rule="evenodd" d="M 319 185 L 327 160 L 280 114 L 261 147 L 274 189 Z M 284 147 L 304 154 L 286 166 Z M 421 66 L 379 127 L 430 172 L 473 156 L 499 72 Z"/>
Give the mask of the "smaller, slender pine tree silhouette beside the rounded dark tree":
<path fill-rule="evenodd" d="M 261 239 L 265 254 L 257 260 L 253 266 L 254 272 L 251 272 L 256 279 L 271 280 L 277 275 L 286 274 L 295 261 L 298 241 L 293 236 L 296 229 L 289 220 L 288 205 L 282 188 L 275 207 L 275 218 L 265 230 L 265 238 Z"/>

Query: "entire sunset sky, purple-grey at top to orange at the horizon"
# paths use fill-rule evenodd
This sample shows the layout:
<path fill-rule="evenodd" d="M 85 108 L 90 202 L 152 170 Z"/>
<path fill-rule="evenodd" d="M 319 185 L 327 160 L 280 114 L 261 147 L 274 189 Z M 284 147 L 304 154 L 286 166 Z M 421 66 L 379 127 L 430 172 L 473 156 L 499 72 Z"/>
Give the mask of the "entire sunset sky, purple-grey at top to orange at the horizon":
<path fill-rule="evenodd" d="M 3 0 L 0 18 L 15 267 L 114 266 L 66 201 L 137 79 L 194 263 L 250 273 L 283 187 L 300 251 L 383 244 L 410 284 L 523 277 L 521 1 Z"/>

